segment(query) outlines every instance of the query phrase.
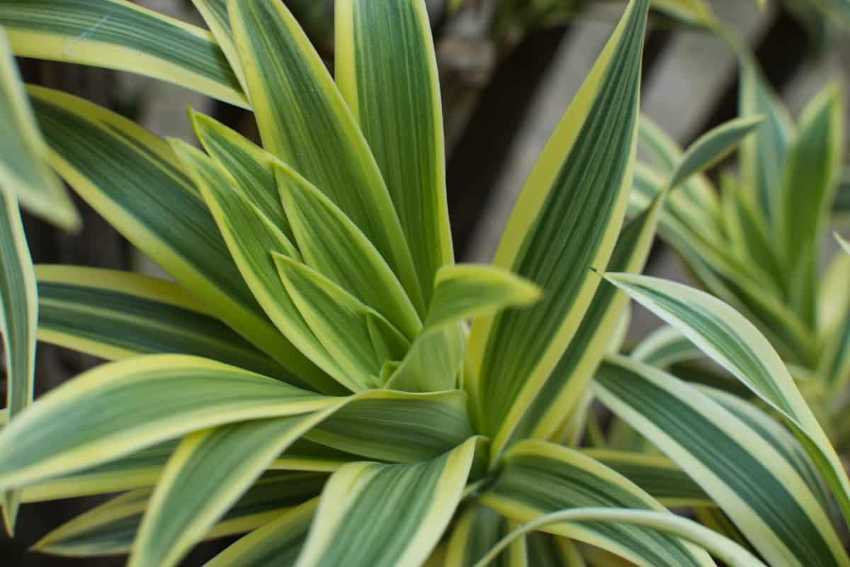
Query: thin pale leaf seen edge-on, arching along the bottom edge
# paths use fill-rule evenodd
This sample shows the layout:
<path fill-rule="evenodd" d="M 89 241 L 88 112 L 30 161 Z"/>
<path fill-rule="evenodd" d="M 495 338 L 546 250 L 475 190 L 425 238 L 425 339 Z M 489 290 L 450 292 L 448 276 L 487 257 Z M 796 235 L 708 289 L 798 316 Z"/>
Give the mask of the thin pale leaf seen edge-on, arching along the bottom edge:
<path fill-rule="evenodd" d="M 542 516 L 503 538 L 490 553 L 474 567 L 486 567 L 502 550 L 518 537 L 534 530 L 563 533 L 571 529 L 570 523 L 597 522 L 600 524 L 626 524 L 628 527 L 651 530 L 659 535 L 678 536 L 692 541 L 721 559 L 729 567 L 766 567 L 744 547 L 689 519 L 670 513 L 629 508 L 579 507 Z"/>

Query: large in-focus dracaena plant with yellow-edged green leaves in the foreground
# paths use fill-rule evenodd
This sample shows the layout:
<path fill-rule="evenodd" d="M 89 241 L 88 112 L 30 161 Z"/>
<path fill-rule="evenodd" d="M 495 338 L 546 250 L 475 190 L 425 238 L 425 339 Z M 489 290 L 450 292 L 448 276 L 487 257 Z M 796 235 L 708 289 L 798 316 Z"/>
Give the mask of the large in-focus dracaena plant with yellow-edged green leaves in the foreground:
<path fill-rule="evenodd" d="M 634 275 L 667 191 L 752 128 L 701 140 L 621 232 L 648 0 L 628 3 L 491 266 L 452 258 L 424 3 L 338 0 L 335 80 L 282 3 L 195 5 L 212 32 L 120 0 L 0 1 L 14 53 L 250 106 L 263 138 L 191 113 L 204 151 L 163 140 L 82 99 L 25 94 L 4 54 L 9 528 L 20 502 L 122 492 L 36 550 L 161 567 L 247 534 L 210 564 L 850 563 L 830 515 L 833 499 L 850 515 L 847 476 L 774 349 L 725 303 Z M 173 281 L 33 269 L 16 200 L 76 218 L 45 160 Z M 606 354 L 617 286 L 793 435 Z M 36 333 L 112 361 L 31 402 Z M 669 459 L 577 449 L 594 396 Z M 668 506 L 728 518 L 751 548 Z"/>

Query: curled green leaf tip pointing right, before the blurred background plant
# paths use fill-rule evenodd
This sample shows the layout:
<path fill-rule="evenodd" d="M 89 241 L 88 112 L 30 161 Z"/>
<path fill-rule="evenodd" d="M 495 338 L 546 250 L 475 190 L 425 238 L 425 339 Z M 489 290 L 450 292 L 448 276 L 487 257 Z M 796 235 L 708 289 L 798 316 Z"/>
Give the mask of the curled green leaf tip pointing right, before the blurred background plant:
<path fill-rule="evenodd" d="M 685 151 L 671 176 L 670 187 L 676 187 L 695 173 L 701 173 L 722 160 L 762 122 L 763 116 L 747 116 L 730 120 L 704 133 Z"/>

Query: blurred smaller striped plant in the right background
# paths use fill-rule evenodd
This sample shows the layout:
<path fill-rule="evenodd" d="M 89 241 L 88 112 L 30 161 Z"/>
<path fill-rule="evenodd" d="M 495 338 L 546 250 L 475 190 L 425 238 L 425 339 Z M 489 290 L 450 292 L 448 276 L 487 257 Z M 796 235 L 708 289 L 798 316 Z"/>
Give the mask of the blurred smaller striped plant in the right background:
<path fill-rule="evenodd" d="M 825 88 L 795 123 L 745 58 L 740 99 L 742 121 L 765 117 L 741 147 L 740 173 L 724 171 L 719 194 L 704 177 L 690 180 L 668 201 L 660 233 L 702 286 L 770 339 L 834 442 L 847 449 L 850 258 L 837 252 L 820 270 L 830 220 L 844 214 L 841 89 Z M 632 193 L 637 208 L 660 190 L 679 153 L 648 120 L 641 137 L 651 164 L 638 164 L 638 190 Z M 683 371 L 693 369 L 686 361 L 698 355 L 669 328 L 648 337 L 635 354 L 662 366 L 685 363 Z"/>

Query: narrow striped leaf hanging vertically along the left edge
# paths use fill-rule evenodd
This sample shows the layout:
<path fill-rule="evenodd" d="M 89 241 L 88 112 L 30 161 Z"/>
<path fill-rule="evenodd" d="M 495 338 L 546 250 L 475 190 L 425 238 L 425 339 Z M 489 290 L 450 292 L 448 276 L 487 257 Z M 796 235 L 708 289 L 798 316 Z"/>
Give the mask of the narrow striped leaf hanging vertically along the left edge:
<path fill-rule="evenodd" d="M 0 191 L 0 332 L 6 363 L 6 419 L 14 418 L 32 402 L 37 323 L 36 276 L 20 209 L 14 196 Z M 9 534 L 14 531 L 19 501 L 16 490 L 0 492 L 3 523 Z"/>

